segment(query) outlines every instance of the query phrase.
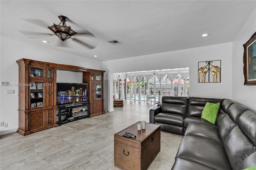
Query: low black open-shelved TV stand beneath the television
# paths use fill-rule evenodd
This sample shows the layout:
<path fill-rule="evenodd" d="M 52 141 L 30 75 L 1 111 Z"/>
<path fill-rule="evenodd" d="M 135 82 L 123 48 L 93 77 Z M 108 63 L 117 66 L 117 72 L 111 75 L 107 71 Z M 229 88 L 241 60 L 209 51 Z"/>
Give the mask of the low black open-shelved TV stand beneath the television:
<path fill-rule="evenodd" d="M 90 104 L 72 103 L 68 105 L 60 105 L 57 108 L 56 114 L 57 124 L 61 126 L 64 123 L 90 117 Z"/>

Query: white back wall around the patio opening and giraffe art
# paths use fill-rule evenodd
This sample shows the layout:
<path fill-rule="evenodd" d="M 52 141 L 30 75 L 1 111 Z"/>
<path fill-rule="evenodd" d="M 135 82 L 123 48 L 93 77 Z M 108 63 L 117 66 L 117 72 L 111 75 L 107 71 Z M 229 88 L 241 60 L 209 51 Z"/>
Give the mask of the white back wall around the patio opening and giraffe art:
<path fill-rule="evenodd" d="M 198 62 L 221 60 L 221 83 L 198 83 Z M 194 97 L 231 98 L 232 43 L 222 43 L 192 49 L 168 51 L 132 58 L 103 61 L 106 74 L 128 71 L 174 69 L 189 67 L 189 95 Z M 114 65 L 114 67 L 113 67 Z M 105 75 L 108 77 L 107 75 Z M 113 82 L 110 82 L 112 83 Z M 111 85 L 109 85 L 112 87 Z M 113 98 L 110 89 L 109 99 Z M 105 96 L 105 100 L 107 100 Z M 106 105 L 107 103 L 105 103 Z M 110 105 L 105 108 L 112 109 Z"/>

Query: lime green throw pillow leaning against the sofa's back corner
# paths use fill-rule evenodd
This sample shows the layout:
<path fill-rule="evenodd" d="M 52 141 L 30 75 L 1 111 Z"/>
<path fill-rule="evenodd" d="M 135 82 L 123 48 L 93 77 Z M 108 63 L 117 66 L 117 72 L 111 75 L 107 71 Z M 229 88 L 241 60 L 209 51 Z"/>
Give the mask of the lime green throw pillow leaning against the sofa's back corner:
<path fill-rule="evenodd" d="M 201 118 L 206 121 L 209 121 L 212 124 L 215 124 L 219 109 L 220 109 L 220 102 L 218 103 L 207 102 L 204 106 L 204 110 L 202 111 Z"/>

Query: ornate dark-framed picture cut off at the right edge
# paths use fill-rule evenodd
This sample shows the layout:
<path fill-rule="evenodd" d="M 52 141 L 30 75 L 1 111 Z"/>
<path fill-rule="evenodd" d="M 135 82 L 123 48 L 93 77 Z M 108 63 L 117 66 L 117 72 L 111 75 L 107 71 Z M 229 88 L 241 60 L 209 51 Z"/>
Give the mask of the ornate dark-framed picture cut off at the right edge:
<path fill-rule="evenodd" d="M 244 85 L 256 85 L 256 32 L 244 46 Z"/>

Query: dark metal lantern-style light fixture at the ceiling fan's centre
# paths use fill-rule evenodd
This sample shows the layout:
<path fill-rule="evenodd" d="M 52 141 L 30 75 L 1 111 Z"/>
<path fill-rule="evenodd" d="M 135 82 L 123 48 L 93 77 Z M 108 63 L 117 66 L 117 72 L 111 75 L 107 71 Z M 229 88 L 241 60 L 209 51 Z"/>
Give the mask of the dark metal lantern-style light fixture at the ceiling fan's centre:
<path fill-rule="evenodd" d="M 70 26 L 66 26 L 66 21 L 68 20 L 65 16 L 59 16 L 61 22 L 59 25 L 53 24 L 53 26 L 48 26 L 48 28 L 54 32 L 60 40 L 65 41 L 68 40 L 71 36 L 74 36 L 77 32 L 72 30 Z M 62 25 L 61 25 L 62 24 Z"/>

